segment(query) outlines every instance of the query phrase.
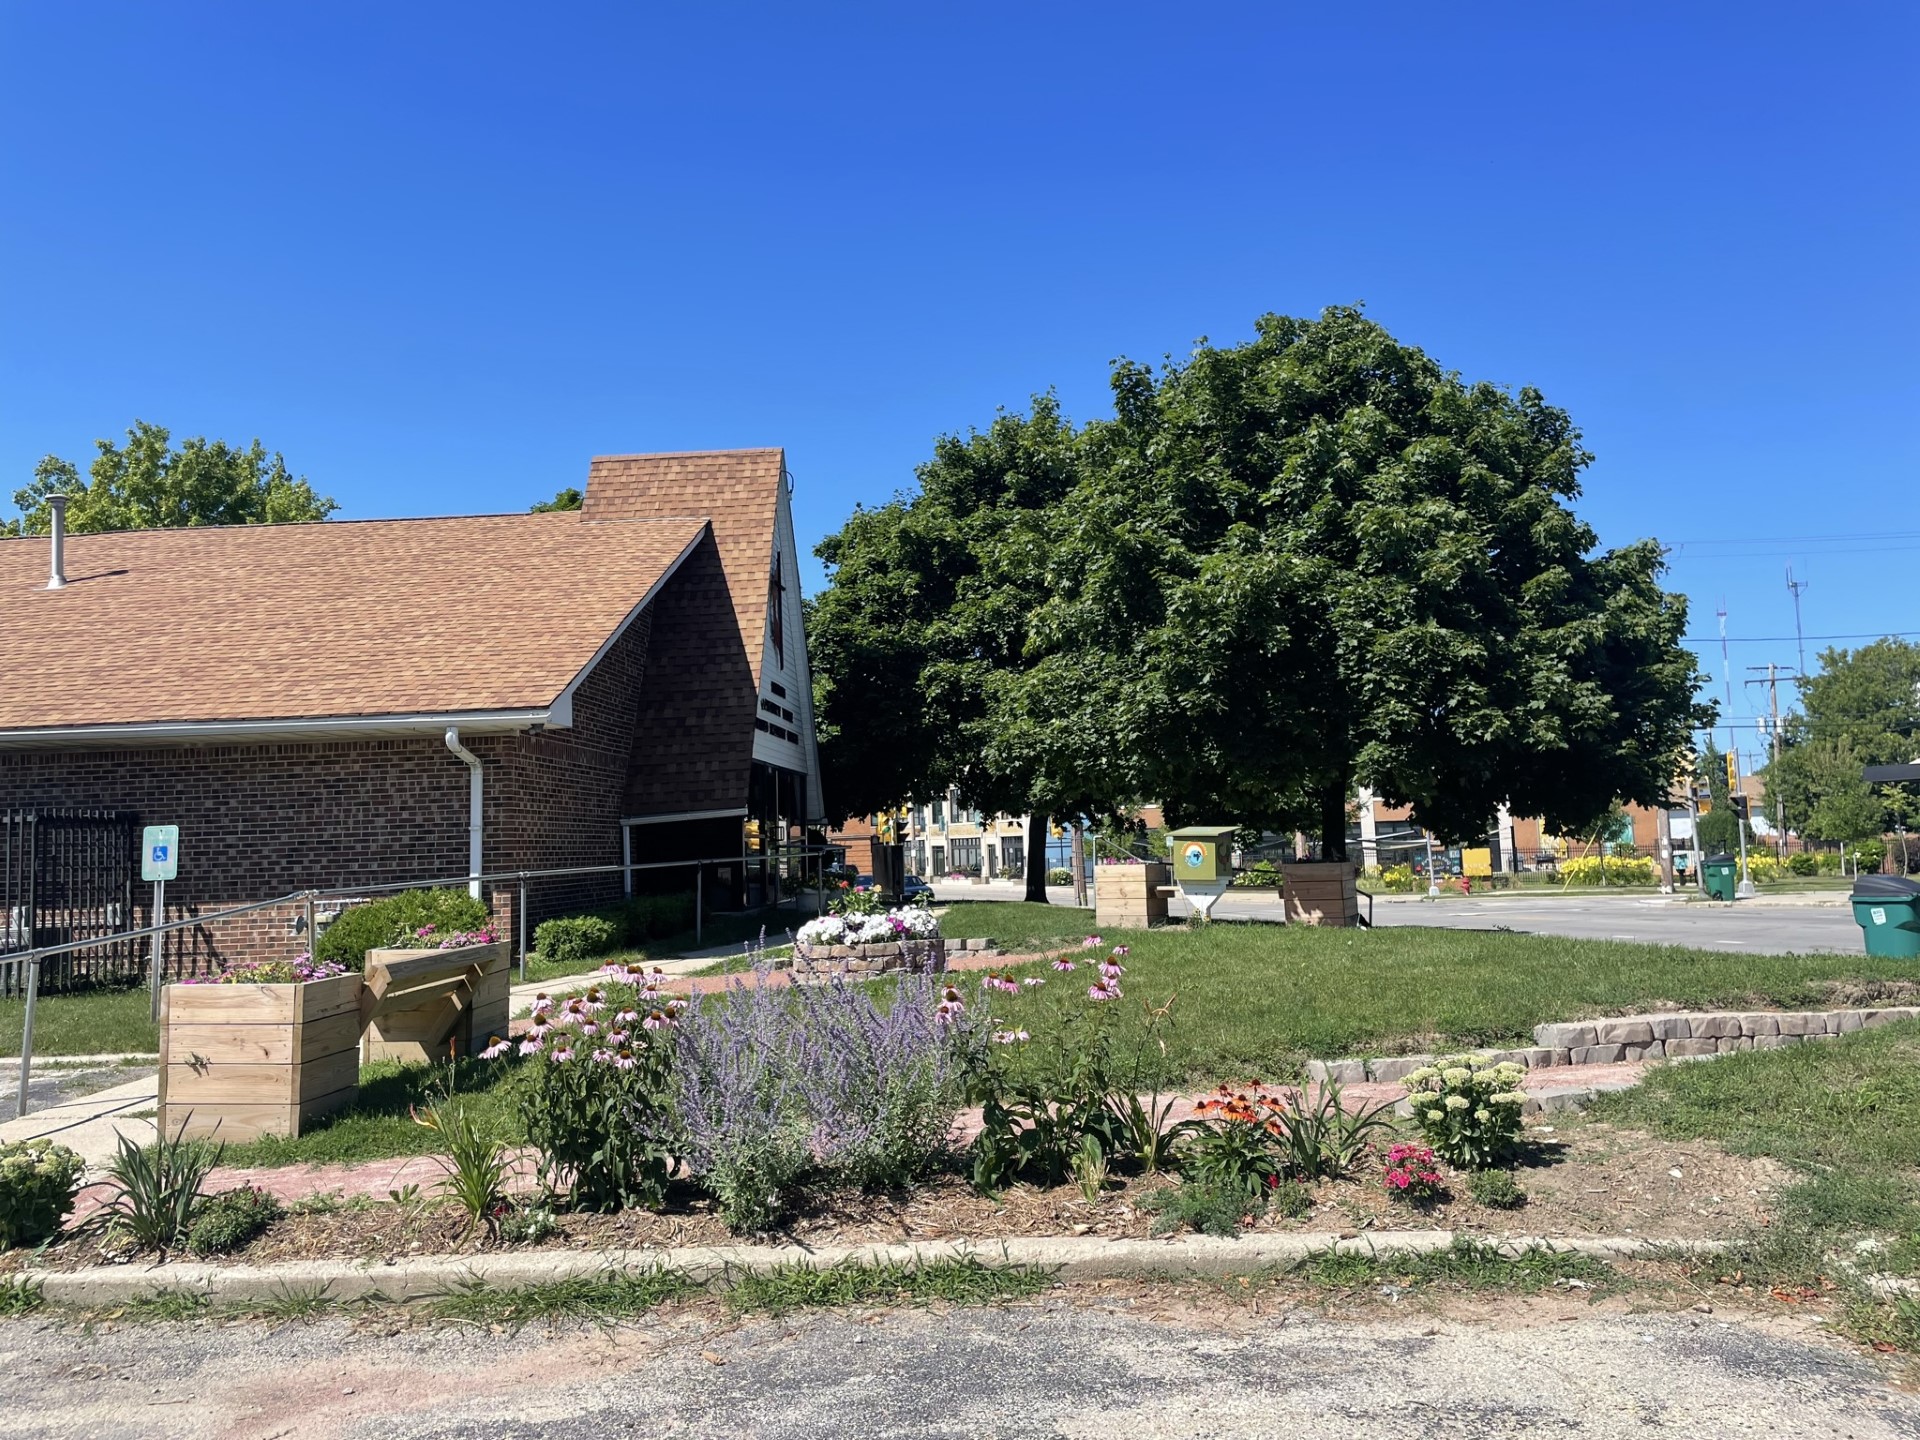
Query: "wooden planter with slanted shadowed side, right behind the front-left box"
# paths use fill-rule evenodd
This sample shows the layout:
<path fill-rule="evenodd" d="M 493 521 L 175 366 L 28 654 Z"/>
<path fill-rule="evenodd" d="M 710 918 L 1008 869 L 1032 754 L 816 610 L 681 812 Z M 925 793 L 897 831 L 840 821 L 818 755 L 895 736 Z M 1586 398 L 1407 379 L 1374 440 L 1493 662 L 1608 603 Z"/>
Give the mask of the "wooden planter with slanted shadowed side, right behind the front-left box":
<path fill-rule="evenodd" d="M 507 1033 L 513 945 L 369 950 L 363 1060 L 445 1060 Z"/>

